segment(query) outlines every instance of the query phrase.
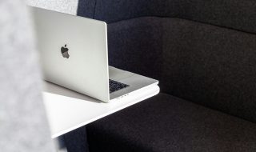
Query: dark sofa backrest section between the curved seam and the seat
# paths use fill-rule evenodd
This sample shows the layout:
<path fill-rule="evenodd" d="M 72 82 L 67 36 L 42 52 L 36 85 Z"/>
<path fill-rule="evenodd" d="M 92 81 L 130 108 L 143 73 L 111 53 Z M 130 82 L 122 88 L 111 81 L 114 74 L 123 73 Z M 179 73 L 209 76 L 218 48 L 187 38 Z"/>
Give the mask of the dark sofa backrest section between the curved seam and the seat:
<path fill-rule="evenodd" d="M 256 35 L 178 18 L 108 25 L 111 66 L 157 78 L 162 92 L 256 122 Z"/>

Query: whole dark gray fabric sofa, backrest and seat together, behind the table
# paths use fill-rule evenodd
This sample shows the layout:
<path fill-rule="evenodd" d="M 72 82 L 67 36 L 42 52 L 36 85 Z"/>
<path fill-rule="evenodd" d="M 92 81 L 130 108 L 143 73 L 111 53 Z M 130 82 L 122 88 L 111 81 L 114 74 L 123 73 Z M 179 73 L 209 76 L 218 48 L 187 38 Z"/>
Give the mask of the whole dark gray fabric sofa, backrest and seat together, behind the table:
<path fill-rule="evenodd" d="M 161 93 L 66 134 L 70 151 L 256 151 L 255 1 L 80 0 L 78 15 L 107 22 L 110 65 Z"/>

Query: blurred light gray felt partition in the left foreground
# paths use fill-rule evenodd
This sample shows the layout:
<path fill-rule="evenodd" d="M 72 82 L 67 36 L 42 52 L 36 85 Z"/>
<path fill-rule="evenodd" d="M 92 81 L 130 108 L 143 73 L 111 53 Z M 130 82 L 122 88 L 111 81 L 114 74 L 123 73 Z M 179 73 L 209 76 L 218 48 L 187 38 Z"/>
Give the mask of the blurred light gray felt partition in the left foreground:
<path fill-rule="evenodd" d="M 25 2 L 0 1 L 0 14 L 0 151 L 54 151 Z"/>

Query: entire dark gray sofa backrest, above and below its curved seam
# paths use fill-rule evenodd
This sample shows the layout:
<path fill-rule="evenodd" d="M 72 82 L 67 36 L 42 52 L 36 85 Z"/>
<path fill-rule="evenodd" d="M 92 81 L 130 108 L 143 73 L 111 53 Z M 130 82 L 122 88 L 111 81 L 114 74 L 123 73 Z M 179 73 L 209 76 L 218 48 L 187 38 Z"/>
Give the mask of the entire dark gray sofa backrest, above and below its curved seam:
<path fill-rule="evenodd" d="M 80 0 L 78 15 L 109 23 L 110 65 L 256 122 L 256 2 Z"/>

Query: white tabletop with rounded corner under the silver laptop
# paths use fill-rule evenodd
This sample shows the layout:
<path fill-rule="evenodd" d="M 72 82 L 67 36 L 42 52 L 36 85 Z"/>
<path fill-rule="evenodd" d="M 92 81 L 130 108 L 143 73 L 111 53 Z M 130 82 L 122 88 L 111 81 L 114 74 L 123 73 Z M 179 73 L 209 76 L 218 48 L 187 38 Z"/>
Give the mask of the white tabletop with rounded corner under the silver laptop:
<path fill-rule="evenodd" d="M 149 90 L 149 88 L 144 89 Z M 144 98 L 135 97 L 132 100 L 129 99 L 129 101 L 120 99 L 118 101 L 104 103 L 63 88 L 62 86 L 44 82 L 44 92 L 42 94 L 46 106 L 47 118 L 50 123 L 51 137 L 56 138 L 80 126 L 94 122 L 106 115 L 113 114 L 146 98 L 150 98 L 159 93 L 159 87 L 155 86 L 146 92 L 147 94 L 142 94 Z"/>

